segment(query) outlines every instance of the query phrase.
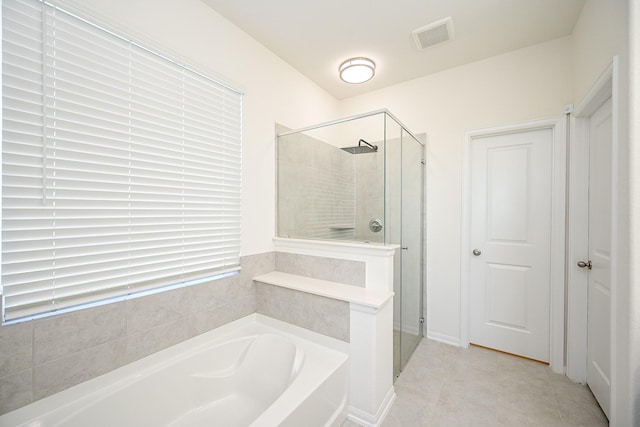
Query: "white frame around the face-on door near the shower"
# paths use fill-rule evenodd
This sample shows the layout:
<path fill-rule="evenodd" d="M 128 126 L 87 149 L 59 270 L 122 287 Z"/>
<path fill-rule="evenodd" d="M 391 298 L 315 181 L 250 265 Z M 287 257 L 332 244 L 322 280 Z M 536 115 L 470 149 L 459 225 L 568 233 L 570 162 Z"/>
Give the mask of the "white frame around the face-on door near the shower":
<path fill-rule="evenodd" d="M 565 342 L 565 207 L 566 207 L 566 118 L 514 123 L 465 132 L 462 181 L 462 241 L 460 244 L 460 346 L 469 346 L 470 329 L 470 256 L 471 253 L 471 144 L 475 138 L 519 133 L 540 129 L 553 132 L 551 181 L 551 288 L 549 301 L 549 365 L 554 372 L 564 373 Z"/>

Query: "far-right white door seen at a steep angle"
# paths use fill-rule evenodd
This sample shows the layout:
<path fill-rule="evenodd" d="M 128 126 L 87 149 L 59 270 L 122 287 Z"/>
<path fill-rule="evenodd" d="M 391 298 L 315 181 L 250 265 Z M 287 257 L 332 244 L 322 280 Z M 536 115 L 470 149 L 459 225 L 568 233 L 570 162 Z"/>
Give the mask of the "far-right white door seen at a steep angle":
<path fill-rule="evenodd" d="M 609 98 L 589 120 L 587 309 L 587 384 L 607 417 L 611 404 L 612 132 Z"/>

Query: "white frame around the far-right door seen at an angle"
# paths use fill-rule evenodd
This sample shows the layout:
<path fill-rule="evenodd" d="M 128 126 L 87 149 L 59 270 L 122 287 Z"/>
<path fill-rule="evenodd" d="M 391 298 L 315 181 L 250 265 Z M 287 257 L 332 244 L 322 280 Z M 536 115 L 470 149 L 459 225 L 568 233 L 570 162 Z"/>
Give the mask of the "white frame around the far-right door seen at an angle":
<path fill-rule="evenodd" d="M 589 123 L 591 115 L 611 97 L 612 121 L 612 171 L 618 169 L 618 57 L 600 75 L 584 99 L 576 107 L 571 141 L 569 215 L 571 224 L 568 241 L 570 267 L 588 257 L 588 207 L 589 207 Z M 611 408 L 612 425 L 615 425 L 617 384 L 617 248 L 618 233 L 618 182 L 612 174 L 611 198 Z M 587 303 L 588 274 L 577 268 L 569 268 L 567 301 L 567 376 L 573 381 L 586 383 L 587 379 Z"/>

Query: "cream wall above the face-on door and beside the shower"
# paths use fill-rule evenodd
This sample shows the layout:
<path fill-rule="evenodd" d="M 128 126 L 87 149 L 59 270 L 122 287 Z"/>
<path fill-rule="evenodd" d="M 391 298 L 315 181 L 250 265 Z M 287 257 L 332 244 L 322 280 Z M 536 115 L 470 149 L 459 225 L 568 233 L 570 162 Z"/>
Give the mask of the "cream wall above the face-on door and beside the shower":
<path fill-rule="evenodd" d="M 460 337 L 464 132 L 562 115 L 572 101 L 571 39 L 457 67 L 342 102 L 342 115 L 388 108 L 427 133 L 427 328 Z"/>

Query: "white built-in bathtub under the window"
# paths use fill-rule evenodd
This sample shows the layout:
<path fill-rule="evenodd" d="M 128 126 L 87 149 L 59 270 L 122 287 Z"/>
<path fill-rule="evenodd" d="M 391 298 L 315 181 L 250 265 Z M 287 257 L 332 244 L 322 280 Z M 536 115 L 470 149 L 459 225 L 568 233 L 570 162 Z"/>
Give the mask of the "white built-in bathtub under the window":
<path fill-rule="evenodd" d="M 253 314 L 0 417 L 2 427 L 339 426 L 346 343 Z"/>

